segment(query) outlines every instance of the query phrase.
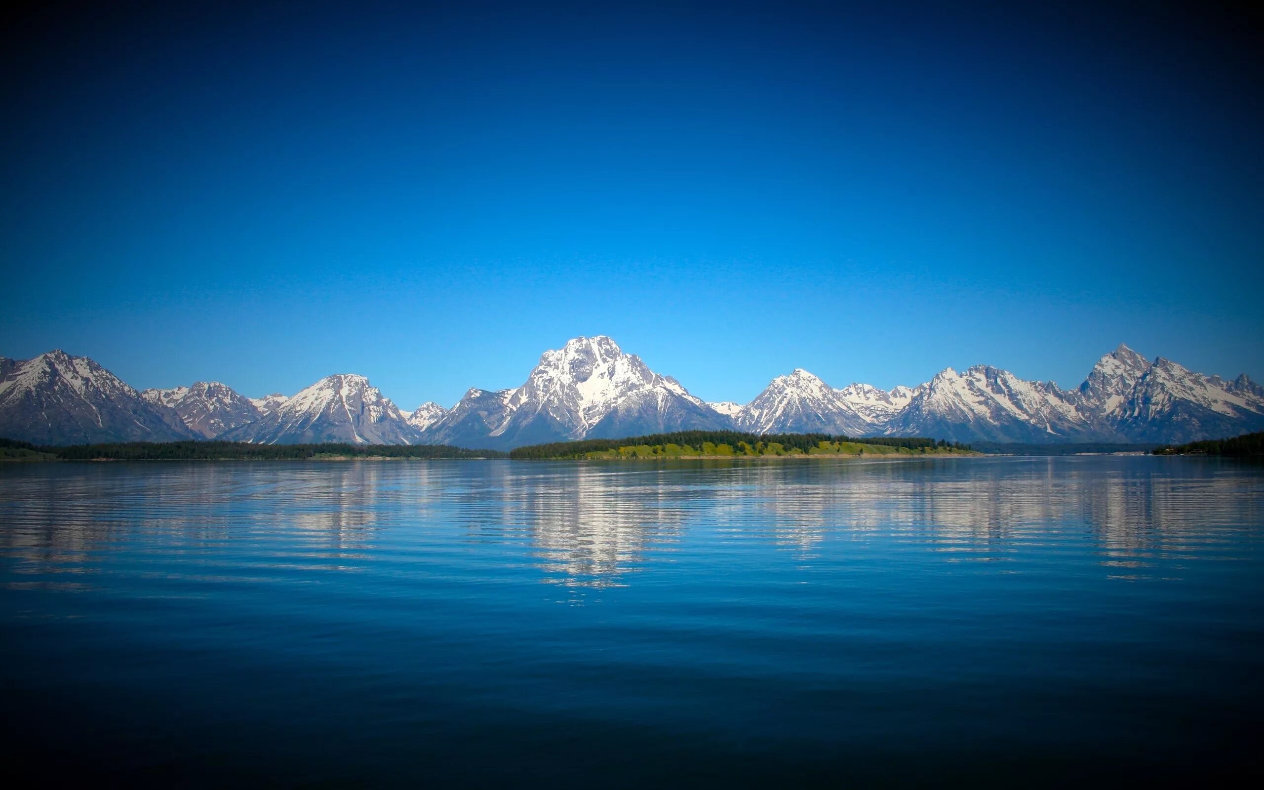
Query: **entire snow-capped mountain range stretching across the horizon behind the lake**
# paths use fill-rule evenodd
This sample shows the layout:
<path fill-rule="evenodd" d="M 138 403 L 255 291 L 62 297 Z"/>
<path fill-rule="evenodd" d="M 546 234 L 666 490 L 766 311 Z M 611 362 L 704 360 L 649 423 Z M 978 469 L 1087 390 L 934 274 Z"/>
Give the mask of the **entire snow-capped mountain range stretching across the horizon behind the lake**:
<path fill-rule="evenodd" d="M 952 368 L 916 387 L 841 389 L 796 369 L 747 404 L 708 403 L 605 336 L 545 351 L 512 389 L 401 411 L 367 378 L 246 398 L 219 382 L 138 392 L 86 356 L 0 356 L 0 436 L 46 445 L 222 439 L 263 444 L 447 444 L 511 449 L 676 430 L 929 436 L 953 441 L 1186 442 L 1264 430 L 1264 387 L 1120 345 L 1074 389 Z"/>

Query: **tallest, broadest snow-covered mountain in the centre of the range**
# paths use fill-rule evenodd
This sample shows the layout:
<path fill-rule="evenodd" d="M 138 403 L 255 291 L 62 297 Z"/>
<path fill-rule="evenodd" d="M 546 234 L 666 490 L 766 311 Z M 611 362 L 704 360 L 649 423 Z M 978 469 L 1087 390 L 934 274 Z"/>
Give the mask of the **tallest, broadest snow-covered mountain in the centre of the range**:
<path fill-rule="evenodd" d="M 599 335 L 545 351 L 522 387 L 470 389 L 423 436 L 498 449 L 731 425 L 680 382 L 655 373 L 640 356 Z"/>

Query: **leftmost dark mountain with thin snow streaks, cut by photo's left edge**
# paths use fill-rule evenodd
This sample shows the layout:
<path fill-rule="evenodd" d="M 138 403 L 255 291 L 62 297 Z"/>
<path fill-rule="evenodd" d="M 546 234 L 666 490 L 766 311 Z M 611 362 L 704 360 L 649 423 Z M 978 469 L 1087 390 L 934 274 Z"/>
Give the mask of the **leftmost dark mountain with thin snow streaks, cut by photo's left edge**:
<path fill-rule="evenodd" d="M 0 436 L 35 444 L 191 439 L 174 410 L 150 403 L 87 356 L 61 349 L 0 363 Z"/>

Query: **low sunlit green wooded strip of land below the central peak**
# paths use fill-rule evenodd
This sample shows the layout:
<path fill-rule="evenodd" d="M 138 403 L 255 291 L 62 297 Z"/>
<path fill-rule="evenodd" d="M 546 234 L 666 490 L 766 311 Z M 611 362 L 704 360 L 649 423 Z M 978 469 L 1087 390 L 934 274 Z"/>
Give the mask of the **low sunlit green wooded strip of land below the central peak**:
<path fill-rule="evenodd" d="M 678 431 L 628 439 L 585 439 L 509 451 L 521 460 L 631 460 L 671 458 L 978 455 L 968 445 L 934 439 L 851 439 L 829 434 Z"/>

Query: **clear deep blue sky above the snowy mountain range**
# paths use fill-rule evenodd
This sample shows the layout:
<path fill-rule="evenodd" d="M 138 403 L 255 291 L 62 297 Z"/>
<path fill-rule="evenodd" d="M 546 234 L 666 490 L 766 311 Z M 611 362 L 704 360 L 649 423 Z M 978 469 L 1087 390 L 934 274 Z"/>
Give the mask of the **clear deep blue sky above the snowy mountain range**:
<path fill-rule="evenodd" d="M 1259 18 L 174 5 L 9 25 L 3 355 L 403 408 L 592 334 L 743 402 L 1264 374 Z"/>

